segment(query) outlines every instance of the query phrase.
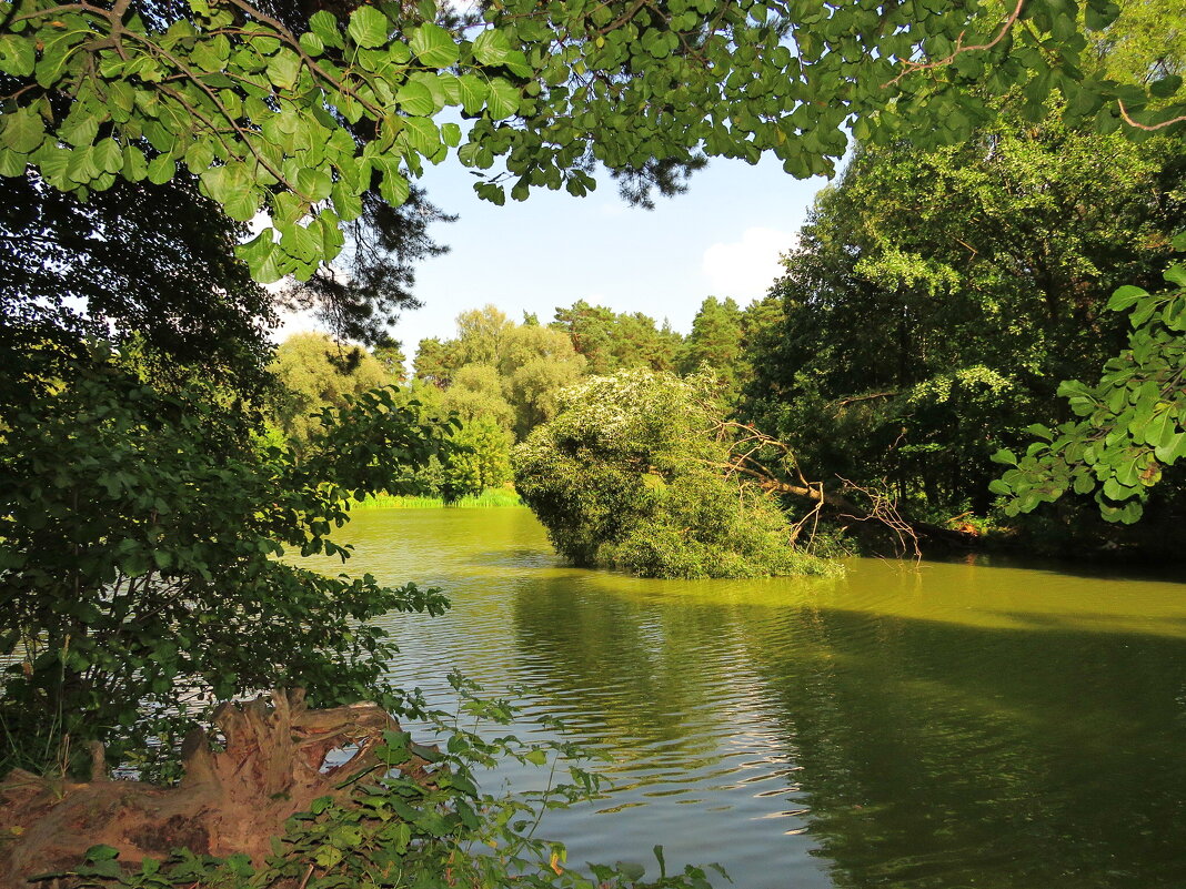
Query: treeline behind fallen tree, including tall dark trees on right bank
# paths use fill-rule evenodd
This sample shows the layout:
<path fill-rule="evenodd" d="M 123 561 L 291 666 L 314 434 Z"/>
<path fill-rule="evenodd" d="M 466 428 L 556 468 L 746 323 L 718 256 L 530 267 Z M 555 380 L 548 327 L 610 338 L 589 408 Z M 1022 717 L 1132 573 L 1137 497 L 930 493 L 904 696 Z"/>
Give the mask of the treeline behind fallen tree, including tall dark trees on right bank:
<path fill-rule="evenodd" d="M 1147 545 L 1181 516 L 1180 481 L 1150 495 L 1140 538 L 1083 498 L 1006 519 L 990 490 L 993 454 L 1066 420 L 1060 383 L 1093 379 L 1124 346 L 1109 296 L 1162 287 L 1186 218 L 1182 140 L 1077 133 L 1060 116 L 1006 102 L 958 147 L 860 148 L 769 295 L 745 308 L 709 298 L 686 337 L 584 301 L 547 325 L 486 306 L 463 313 L 453 339 L 421 341 L 413 388 L 483 430 L 498 467 L 484 481 L 502 484 L 506 449 L 555 417 L 567 386 L 709 370 L 727 418 L 788 446 L 796 471 L 837 498 L 890 504 L 952 538 L 995 529 L 1037 550 Z"/>

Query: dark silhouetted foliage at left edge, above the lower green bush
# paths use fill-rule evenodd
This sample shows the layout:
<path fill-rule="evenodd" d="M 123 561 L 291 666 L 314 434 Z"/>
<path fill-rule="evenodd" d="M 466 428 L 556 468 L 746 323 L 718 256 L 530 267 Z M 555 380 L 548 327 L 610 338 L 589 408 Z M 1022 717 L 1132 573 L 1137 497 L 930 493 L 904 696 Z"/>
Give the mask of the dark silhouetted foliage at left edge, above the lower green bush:
<path fill-rule="evenodd" d="M 47 350 L 77 357 L 87 335 L 135 339 L 158 373 L 181 364 L 257 388 L 275 315 L 235 258 L 244 234 L 187 175 L 87 204 L 36 177 L 0 178 L 0 397 L 27 395 Z"/>

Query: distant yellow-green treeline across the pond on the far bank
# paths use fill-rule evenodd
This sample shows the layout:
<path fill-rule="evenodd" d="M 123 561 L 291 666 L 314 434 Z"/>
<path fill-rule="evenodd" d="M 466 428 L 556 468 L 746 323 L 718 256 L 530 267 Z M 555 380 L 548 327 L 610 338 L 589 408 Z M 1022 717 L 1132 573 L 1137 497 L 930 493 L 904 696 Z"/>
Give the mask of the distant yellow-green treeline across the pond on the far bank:
<path fill-rule="evenodd" d="M 691 333 L 643 313 L 614 313 L 584 300 L 557 308 L 542 325 L 521 322 L 495 306 L 463 312 L 452 339 L 420 341 L 409 376 L 398 344 L 364 348 L 326 334 L 298 333 L 276 350 L 270 369 L 279 382 L 273 402 L 276 435 L 298 447 L 318 427 L 315 414 L 346 396 L 400 384 L 404 403 L 426 416 L 454 415 L 453 441 L 463 447 L 417 469 L 426 494 L 452 501 L 511 480 L 511 447 L 555 417 L 562 390 L 588 376 L 648 369 L 687 375 L 712 369 L 731 399 L 752 377 L 744 353 L 766 307 L 742 309 L 709 296 Z"/>

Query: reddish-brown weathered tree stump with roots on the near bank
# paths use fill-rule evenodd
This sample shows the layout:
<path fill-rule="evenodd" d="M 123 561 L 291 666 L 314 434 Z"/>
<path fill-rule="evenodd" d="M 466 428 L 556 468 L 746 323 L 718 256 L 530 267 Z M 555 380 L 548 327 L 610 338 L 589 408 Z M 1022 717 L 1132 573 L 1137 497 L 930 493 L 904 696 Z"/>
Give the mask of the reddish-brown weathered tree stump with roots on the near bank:
<path fill-rule="evenodd" d="M 107 780 L 101 748 L 96 774 L 84 784 L 12 772 L 0 782 L 0 887 L 69 870 L 98 844 L 117 849 L 128 864 L 178 846 L 262 863 L 291 816 L 319 797 L 346 798 L 352 779 L 382 767 L 375 748 L 383 731 L 400 730 L 375 704 L 311 710 L 304 698 L 299 690 L 278 691 L 270 703 L 223 704 L 212 721 L 224 748 L 211 749 L 211 733 L 191 733 L 177 787 Z M 343 749 L 352 752 L 349 759 L 326 763 Z M 427 765 L 413 756 L 400 768 L 427 786 Z"/>

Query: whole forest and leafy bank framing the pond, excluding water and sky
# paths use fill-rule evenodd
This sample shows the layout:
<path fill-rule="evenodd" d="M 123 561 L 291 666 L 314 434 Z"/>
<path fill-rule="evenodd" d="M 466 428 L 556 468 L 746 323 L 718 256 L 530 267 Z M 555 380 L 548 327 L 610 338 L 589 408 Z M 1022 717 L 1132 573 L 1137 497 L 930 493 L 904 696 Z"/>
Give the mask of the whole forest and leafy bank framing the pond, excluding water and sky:
<path fill-rule="evenodd" d="M 0 8 L 0 884 L 708 885 L 535 837 L 588 753 L 393 684 L 377 619 L 448 591 L 334 532 L 514 491 L 653 578 L 1180 559 L 1184 71 L 1165 0 Z M 833 175 L 764 299 L 396 339 L 426 164 L 645 207 L 763 154 Z M 508 757 L 566 778 L 482 789 Z"/>

